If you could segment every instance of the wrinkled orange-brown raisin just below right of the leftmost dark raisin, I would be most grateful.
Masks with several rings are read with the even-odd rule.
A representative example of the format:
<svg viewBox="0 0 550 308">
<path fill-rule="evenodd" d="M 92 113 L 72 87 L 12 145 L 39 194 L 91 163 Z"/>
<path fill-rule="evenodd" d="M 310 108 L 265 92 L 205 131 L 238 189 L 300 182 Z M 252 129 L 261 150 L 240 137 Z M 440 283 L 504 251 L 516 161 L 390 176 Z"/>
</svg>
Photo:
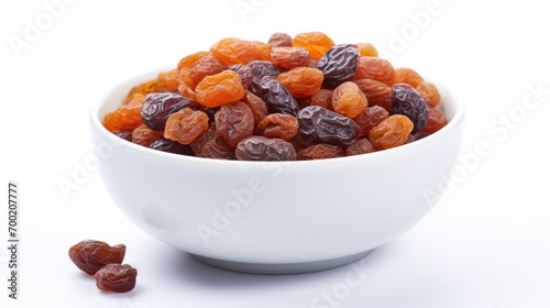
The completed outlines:
<svg viewBox="0 0 550 308">
<path fill-rule="evenodd" d="M 182 144 L 189 144 L 201 132 L 208 130 L 208 116 L 200 110 L 184 108 L 172 113 L 166 121 L 164 138 L 177 141 Z"/>
</svg>

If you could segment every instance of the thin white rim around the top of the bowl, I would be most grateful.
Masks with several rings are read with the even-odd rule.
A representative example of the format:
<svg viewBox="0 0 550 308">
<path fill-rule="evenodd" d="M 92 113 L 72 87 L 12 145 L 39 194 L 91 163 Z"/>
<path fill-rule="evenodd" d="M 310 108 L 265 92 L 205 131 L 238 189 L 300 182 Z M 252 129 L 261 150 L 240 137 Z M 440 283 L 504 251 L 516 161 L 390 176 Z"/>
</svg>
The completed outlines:
<svg viewBox="0 0 550 308">
<path fill-rule="evenodd" d="M 380 157 L 386 157 L 386 156 L 392 156 L 392 155 L 400 155 L 403 152 L 408 152 L 408 151 L 415 151 L 417 147 L 425 146 L 429 143 L 436 142 L 440 139 L 446 138 L 446 135 L 450 134 L 451 131 L 458 129 L 458 127 L 463 122 L 464 114 L 465 114 L 465 106 L 459 97 L 457 97 L 449 88 L 447 88 L 442 82 L 439 81 L 430 81 L 435 84 L 438 88 L 438 90 L 441 94 L 442 99 L 443 98 L 450 98 L 452 101 L 453 108 L 454 108 L 454 114 L 452 119 L 447 123 L 446 127 L 443 127 L 441 130 L 437 131 L 433 134 L 430 134 L 428 136 L 425 136 L 420 140 L 417 140 L 411 143 L 403 144 L 393 148 L 387 148 L 383 151 L 376 151 L 372 153 L 366 153 L 366 154 L 361 154 L 361 155 L 353 155 L 353 156 L 343 156 L 343 157 L 334 157 L 334 158 L 324 158 L 324 160 L 311 160 L 311 161 L 237 161 L 237 160 L 215 160 L 215 158 L 205 158 L 205 157 L 197 157 L 197 156 L 187 156 L 187 155 L 180 155 L 180 154 L 174 154 L 174 153 L 167 153 L 163 151 L 157 151 L 153 148 L 148 148 L 135 143 L 132 143 L 130 141 L 127 141 L 122 138 L 119 138 L 108 131 L 103 124 L 102 124 L 102 118 L 105 114 L 102 114 L 100 111 L 103 108 L 105 105 L 107 105 L 110 100 L 112 100 L 113 94 L 117 91 L 120 91 L 122 87 L 127 85 L 131 85 L 133 81 L 138 85 L 139 82 L 143 82 L 146 80 L 150 80 L 154 78 L 155 76 L 158 75 L 160 72 L 165 72 L 166 68 L 163 67 L 161 69 L 155 69 L 151 70 L 147 73 L 140 74 L 138 76 L 134 76 L 132 78 L 128 78 L 124 81 L 118 84 L 117 86 L 112 87 L 106 95 L 101 97 L 100 100 L 95 101 L 91 105 L 91 108 L 89 110 L 89 121 L 91 129 L 95 130 L 98 134 L 103 136 L 106 140 L 108 140 L 110 143 L 114 144 L 114 146 L 121 146 L 125 150 L 134 151 L 135 153 L 139 153 L 141 155 L 146 155 L 146 156 L 156 156 L 158 158 L 165 158 L 165 160 L 173 160 L 175 163 L 194 163 L 194 164 L 208 164 L 208 165 L 221 165 L 221 166 L 241 166 L 241 165 L 258 165 L 258 164 L 283 164 L 283 165 L 318 165 L 318 164 L 334 164 L 334 163 L 343 163 L 343 162 L 354 162 L 354 161 L 364 161 L 364 160 L 377 160 Z M 128 91 L 130 91 L 130 88 L 133 86 L 130 86 L 128 88 Z M 446 109 L 447 107 L 444 106 L 444 101 L 441 101 L 443 103 L 442 108 Z M 122 101 L 121 101 L 122 105 Z M 444 112 L 446 117 L 449 118 L 448 112 Z"/>
</svg>

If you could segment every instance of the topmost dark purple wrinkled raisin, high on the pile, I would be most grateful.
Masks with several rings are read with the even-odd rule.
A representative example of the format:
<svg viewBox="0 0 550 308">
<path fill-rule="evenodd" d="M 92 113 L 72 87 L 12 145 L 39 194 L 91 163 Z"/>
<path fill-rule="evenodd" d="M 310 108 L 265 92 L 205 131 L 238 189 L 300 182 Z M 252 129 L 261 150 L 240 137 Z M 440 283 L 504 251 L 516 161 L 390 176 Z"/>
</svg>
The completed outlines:
<svg viewBox="0 0 550 308">
<path fill-rule="evenodd" d="M 317 68 L 324 75 L 324 86 L 333 87 L 350 80 L 358 68 L 359 50 L 354 45 L 334 45 L 319 59 Z"/>
</svg>

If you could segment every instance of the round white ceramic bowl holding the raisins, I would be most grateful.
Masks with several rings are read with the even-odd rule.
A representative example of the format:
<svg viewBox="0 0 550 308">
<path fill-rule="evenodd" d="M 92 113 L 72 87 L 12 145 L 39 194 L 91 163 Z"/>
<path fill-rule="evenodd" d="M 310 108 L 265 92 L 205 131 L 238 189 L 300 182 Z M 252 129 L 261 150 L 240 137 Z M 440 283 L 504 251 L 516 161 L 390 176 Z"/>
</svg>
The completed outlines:
<svg viewBox="0 0 550 308">
<path fill-rule="evenodd" d="M 438 85 L 449 124 L 396 148 L 305 162 L 239 162 L 143 147 L 108 132 L 118 86 L 90 113 L 100 174 L 122 212 L 208 264 L 250 273 L 340 266 L 403 234 L 432 208 L 460 150 L 464 108 Z M 430 194 L 431 193 L 431 194 Z M 427 195 L 428 194 L 428 195 Z"/>
</svg>

